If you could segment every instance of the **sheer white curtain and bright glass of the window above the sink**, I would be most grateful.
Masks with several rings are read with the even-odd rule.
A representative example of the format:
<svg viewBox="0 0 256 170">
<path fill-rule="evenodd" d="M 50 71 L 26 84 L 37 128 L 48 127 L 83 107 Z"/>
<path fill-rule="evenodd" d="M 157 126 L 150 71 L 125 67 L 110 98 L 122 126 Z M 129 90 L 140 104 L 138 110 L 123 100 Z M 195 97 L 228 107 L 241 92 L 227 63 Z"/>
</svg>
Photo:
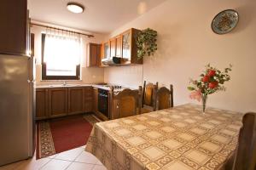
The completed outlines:
<svg viewBox="0 0 256 170">
<path fill-rule="evenodd" d="M 81 37 L 65 31 L 47 29 L 44 42 L 44 62 L 47 76 L 75 76 L 80 65 Z"/>
</svg>

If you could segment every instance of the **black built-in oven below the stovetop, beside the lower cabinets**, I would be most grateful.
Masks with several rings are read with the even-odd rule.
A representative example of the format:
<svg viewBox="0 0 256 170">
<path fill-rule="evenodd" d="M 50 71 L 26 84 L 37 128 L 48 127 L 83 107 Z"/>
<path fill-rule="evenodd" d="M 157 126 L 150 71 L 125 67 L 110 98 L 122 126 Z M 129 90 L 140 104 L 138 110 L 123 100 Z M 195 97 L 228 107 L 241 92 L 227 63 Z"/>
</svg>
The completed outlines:
<svg viewBox="0 0 256 170">
<path fill-rule="evenodd" d="M 109 118 L 108 113 L 108 90 L 98 89 L 98 111 Z"/>
</svg>

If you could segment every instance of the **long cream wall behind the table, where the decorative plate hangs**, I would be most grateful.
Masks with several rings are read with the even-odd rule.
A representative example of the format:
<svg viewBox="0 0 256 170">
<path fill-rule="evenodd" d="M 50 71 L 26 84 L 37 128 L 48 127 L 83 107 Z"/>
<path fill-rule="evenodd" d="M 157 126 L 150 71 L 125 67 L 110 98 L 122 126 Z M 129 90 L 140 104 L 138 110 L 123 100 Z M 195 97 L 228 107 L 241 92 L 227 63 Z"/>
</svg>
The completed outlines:
<svg viewBox="0 0 256 170">
<path fill-rule="evenodd" d="M 227 8 L 236 9 L 240 21 L 235 30 L 217 35 L 211 29 L 212 19 Z M 233 64 L 231 81 L 225 84 L 227 91 L 210 95 L 207 105 L 232 111 L 256 111 L 255 8 L 255 0 L 166 0 L 110 35 L 131 27 L 150 27 L 159 34 L 157 53 L 144 59 L 142 71 L 137 71 L 140 66 L 105 69 L 105 82 L 172 83 L 174 104 L 180 105 L 195 102 L 188 97 L 189 77 L 198 78 L 204 65 L 211 63 L 223 69 Z M 133 76 L 125 75 L 127 71 Z"/>
</svg>

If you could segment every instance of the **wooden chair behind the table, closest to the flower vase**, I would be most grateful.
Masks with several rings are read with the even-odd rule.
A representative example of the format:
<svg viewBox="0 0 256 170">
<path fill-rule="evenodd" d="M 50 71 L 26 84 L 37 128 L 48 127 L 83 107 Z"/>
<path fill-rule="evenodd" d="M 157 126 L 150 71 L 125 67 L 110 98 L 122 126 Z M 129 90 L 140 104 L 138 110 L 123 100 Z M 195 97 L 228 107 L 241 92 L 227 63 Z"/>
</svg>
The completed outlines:
<svg viewBox="0 0 256 170">
<path fill-rule="evenodd" d="M 170 85 L 170 89 L 162 87 L 160 89 L 154 88 L 155 105 L 154 111 L 159 111 L 173 107 L 173 87 Z"/>
</svg>

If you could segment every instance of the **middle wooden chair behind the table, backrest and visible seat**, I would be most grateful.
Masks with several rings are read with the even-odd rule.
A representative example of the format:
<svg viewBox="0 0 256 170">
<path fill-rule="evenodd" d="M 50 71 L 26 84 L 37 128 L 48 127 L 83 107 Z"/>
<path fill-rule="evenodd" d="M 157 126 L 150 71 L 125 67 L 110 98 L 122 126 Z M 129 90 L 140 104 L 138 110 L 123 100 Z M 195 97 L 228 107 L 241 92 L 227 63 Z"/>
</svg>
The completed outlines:
<svg viewBox="0 0 256 170">
<path fill-rule="evenodd" d="M 155 105 L 154 89 L 158 89 L 158 82 L 156 82 L 156 84 L 153 84 L 151 82 L 146 84 L 146 81 L 144 81 L 142 113 L 148 113 L 148 112 L 154 111 L 154 105 Z"/>
</svg>

